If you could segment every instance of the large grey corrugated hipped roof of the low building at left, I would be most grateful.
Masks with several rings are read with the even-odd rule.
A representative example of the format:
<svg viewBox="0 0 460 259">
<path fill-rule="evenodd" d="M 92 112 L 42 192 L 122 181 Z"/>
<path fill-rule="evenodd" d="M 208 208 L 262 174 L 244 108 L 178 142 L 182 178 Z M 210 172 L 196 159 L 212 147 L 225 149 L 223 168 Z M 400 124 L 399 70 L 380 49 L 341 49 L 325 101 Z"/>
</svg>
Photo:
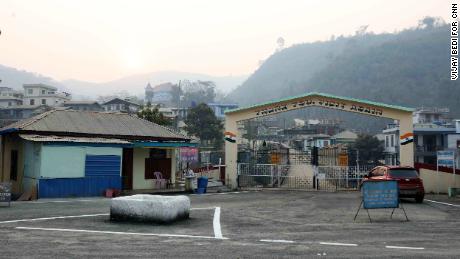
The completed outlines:
<svg viewBox="0 0 460 259">
<path fill-rule="evenodd" d="M 185 135 L 134 115 L 94 111 L 51 110 L 0 129 L 0 133 L 8 131 L 190 140 Z"/>
</svg>

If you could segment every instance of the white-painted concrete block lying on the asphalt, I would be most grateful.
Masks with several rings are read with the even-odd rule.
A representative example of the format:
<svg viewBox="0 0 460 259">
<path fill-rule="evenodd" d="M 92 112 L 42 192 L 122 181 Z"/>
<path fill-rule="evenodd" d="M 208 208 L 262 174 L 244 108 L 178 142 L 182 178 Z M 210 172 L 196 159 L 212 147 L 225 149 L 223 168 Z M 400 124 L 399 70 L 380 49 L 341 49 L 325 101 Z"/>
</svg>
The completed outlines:
<svg viewBox="0 0 460 259">
<path fill-rule="evenodd" d="M 190 199 L 184 195 L 163 196 L 137 194 L 113 198 L 110 219 L 171 223 L 189 218 Z"/>
</svg>

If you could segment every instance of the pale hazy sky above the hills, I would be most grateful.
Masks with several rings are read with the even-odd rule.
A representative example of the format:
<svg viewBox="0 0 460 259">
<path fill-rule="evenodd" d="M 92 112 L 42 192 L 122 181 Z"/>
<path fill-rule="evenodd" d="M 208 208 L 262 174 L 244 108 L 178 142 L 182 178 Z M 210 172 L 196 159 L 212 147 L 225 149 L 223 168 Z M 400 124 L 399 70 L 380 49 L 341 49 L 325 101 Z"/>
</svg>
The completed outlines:
<svg viewBox="0 0 460 259">
<path fill-rule="evenodd" d="M 0 64 L 53 78 L 108 81 L 160 70 L 250 74 L 286 46 L 449 21 L 451 1 L 1 0 Z"/>
</svg>

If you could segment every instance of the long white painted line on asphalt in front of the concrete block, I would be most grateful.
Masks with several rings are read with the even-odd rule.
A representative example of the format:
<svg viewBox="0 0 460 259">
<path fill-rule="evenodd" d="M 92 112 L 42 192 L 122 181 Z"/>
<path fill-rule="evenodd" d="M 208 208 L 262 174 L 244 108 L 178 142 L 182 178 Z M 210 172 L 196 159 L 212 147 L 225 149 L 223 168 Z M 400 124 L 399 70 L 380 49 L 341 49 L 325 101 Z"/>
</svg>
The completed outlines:
<svg viewBox="0 0 460 259">
<path fill-rule="evenodd" d="M 179 235 L 179 234 L 154 234 L 154 233 L 136 233 L 136 232 L 117 232 L 117 231 L 99 231 L 99 230 L 68 229 L 68 228 L 16 227 L 16 229 L 74 232 L 74 233 L 75 232 L 80 232 L 80 233 L 95 233 L 95 234 L 133 235 L 133 236 L 184 237 L 184 238 L 201 238 L 201 239 L 228 239 L 228 238 L 215 238 L 215 237 L 209 237 L 209 236 L 194 236 L 194 235 Z"/>
</svg>

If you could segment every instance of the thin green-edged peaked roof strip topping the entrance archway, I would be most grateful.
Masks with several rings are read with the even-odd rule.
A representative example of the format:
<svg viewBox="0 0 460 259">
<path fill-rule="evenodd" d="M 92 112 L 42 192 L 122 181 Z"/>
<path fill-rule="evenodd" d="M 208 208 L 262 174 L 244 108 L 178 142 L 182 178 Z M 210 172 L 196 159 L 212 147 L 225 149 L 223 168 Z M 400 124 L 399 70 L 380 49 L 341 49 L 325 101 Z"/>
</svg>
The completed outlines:
<svg viewBox="0 0 460 259">
<path fill-rule="evenodd" d="M 294 100 L 294 99 L 299 99 L 299 98 L 304 98 L 304 97 L 309 97 L 309 96 L 329 97 L 329 98 L 343 100 L 343 101 L 364 103 L 364 104 L 369 104 L 369 105 L 373 105 L 373 106 L 377 106 L 377 107 L 390 108 L 390 109 L 395 109 L 395 110 L 400 110 L 400 111 L 407 111 L 407 112 L 415 111 L 414 108 L 409 108 L 409 107 L 403 107 L 403 106 L 398 106 L 398 105 L 374 102 L 374 101 L 369 101 L 369 100 L 365 100 L 365 99 L 358 99 L 358 98 L 351 98 L 351 97 L 344 97 L 344 96 L 336 96 L 336 95 L 332 95 L 332 94 L 311 92 L 311 93 L 307 93 L 307 94 L 303 94 L 303 95 L 290 96 L 290 97 L 286 97 L 286 98 L 282 98 L 282 99 L 277 99 L 277 100 L 272 100 L 272 101 L 268 101 L 268 102 L 264 102 L 264 103 L 254 104 L 254 105 L 247 106 L 247 107 L 241 107 L 241 108 L 237 108 L 237 109 L 233 109 L 233 110 L 227 110 L 227 111 L 225 111 L 225 114 L 241 112 L 241 111 L 245 111 L 245 110 L 249 110 L 249 109 L 253 109 L 253 108 L 262 107 L 262 106 L 265 106 L 265 105 L 271 105 L 271 104 L 275 104 L 275 103 L 278 103 L 278 102 L 291 101 L 291 100 Z"/>
</svg>

